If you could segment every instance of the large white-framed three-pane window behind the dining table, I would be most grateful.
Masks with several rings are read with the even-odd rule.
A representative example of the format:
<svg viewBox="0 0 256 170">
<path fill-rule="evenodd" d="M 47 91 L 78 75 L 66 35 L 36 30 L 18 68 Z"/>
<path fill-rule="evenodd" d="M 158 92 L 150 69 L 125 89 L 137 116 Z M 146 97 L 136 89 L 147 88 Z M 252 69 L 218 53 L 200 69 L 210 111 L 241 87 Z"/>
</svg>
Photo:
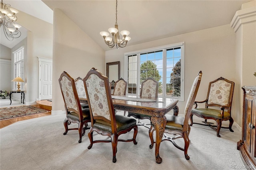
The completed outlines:
<svg viewBox="0 0 256 170">
<path fill-rule="evenodd" d="M 159 82 L 158 96 L 184 101 L 184 42 L 124 54 L 128 94 L 139 95 L 148 77 Z"/>
</svg>

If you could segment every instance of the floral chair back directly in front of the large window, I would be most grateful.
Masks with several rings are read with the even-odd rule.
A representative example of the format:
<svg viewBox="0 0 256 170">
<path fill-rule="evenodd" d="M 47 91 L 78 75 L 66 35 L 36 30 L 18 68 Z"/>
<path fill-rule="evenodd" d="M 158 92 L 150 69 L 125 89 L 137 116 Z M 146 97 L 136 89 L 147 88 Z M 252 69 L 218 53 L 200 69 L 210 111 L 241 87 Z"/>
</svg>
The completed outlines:
<svg viewBox="0 0 256 170">
<path fill-rule="evenodd" d="M 152 78 L 147 78 L 141 83 L 140 90 L 141 98 L 155 98 L 158 97 L 158 81 Z"/>
</svg>

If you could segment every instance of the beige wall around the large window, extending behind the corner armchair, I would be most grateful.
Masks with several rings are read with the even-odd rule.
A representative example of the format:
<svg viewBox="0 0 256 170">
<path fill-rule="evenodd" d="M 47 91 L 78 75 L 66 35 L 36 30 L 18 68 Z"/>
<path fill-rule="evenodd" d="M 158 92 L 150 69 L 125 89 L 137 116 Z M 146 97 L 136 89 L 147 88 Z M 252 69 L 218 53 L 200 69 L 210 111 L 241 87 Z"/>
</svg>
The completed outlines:
<svg viewBox="0 0 256 170">
<path fill-rule="evenodd" d="M 196 101 L 206 99 L 210 81 L 224 77 L 236 83 L 236 34 L 229 24 L 106 51 L 106 63 L 120 61 L 120 76 L 124 77 L 124 53 L 178 42 L 185 42 L 185 100 L 178 102 L 180 114 L 184 114 L 191 85 L 198 71 L 201 70 L 203 74 Z M 233 101 L 236 95 L 234 93 Z M 236 105 L 232 105 L 232 112 L 232 117 L 240 125 L 241 113 L 236 111 Z"/>
</svg>

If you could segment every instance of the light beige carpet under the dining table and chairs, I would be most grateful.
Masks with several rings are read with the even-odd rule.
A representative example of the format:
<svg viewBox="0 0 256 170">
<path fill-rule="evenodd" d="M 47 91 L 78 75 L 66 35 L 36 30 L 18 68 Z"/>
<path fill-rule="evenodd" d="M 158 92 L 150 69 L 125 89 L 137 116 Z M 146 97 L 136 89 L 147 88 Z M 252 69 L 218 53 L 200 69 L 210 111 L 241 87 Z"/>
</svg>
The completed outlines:
<svg viewBox="0 0 256 170">
<path fill-rule="evenodd" d="M 118 114 L 123 114 L 122 112 Z M 245 169 L 236 150 L 241 132 L 221 129 L 221 138 L 209 127 L 193 125 L 186 160 L 184 152 L 171 142 L 160 145 L 163 159 L 157 164 L 149 148 L 148 129 L 139 127 L 137 145 L 118 142 L 117 161 L 112 163 L 111 143 L 96 143 L 88 150 L 87 134 L 78 143 L 76 130 L 63 135 L 65 115 L 46 116 L 14 123 L 0 129 L 1 170 L 229 170 Z M 76 124 L 74 124 L 76 125 Z M 88 130 L 86 130 L 88 132 Z M 131 138 L 133 134 L 122 134 Z M 94 138 L 102 138 L 94 134 Z M 103 137 L 105 138 L 105 137 Z M 181 139 L 182 142 L 182 139 Z M 236 168 L 234 168 L 236 167 Z"/>
</svg>

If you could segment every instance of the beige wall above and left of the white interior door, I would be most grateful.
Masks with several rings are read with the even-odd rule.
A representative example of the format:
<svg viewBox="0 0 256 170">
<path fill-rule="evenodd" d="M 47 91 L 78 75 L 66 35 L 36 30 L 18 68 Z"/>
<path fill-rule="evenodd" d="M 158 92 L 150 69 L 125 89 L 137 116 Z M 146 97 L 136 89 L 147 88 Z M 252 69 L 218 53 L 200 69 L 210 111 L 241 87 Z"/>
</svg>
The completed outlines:
<svg viewBox="0 0 256 170">
<path fill-rule="evenodd" d="M 38 98 L 38 58 L 52 58 L 52 24 L 28 15 L 17 14 L 18 24 L 28 30 L 24 58 L 24 81 L 26 82 L 26 105 L 35 104 Z M 12 48 L 16 50 L 19 45 Z M 20 47 L 20 46 L 19 46 Z M 13 75 L 13 74 L 12 74 Z"/>
</svg>

